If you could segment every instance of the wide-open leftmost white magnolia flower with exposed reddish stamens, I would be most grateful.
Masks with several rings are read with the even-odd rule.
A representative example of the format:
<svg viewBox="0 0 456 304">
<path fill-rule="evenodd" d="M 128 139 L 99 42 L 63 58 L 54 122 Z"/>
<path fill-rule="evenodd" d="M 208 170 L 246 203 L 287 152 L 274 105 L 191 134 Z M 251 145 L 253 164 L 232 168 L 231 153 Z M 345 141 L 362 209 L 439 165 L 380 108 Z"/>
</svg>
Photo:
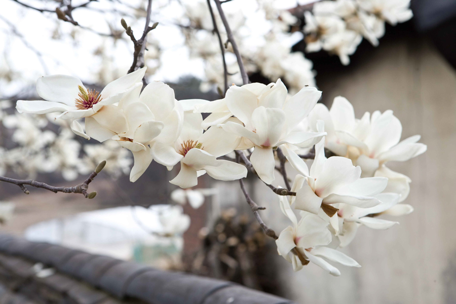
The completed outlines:
<svg viewBox="0 0 456 304">
<path fill-rule="evenodd" d="M 86 131 L 91 133 L 93 125 L 98 126 L 101 122 L 112 119 L 112 111 L 100 111 L 103 106 L 118 102 L 126 92 L 142 86 L 145 69 L 143 67 L 109 83 L 100 93 L 88 90 L 81 80 L 68 75 L 41 77 L 36 81 L 36 91 L 45 100 L 18 100 L 16 108 L 19 113 L 62 112 L 56 119 L 91 118 L 91 124 L 86 119 Z M 90 139 L 77 121 L 73 121 L 71 129 L 74 133 Z"/>
</svg>

